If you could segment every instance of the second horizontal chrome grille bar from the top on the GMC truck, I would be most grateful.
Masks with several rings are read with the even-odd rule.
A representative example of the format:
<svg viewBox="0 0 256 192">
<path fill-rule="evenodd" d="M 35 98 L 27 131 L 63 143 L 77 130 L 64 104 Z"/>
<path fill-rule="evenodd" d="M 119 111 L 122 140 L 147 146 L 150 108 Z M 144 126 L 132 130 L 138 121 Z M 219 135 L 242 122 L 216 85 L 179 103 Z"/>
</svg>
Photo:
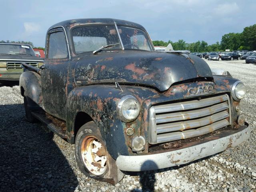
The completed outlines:
<svg viewBox="0 0 256 192">
<path fill-rule="evenodd" d="M 156 115 L 156 123 L 188 120 L 188 119 L 211 115 L 226 109 L 228 109 L 228 103 L 224 102 L 224 103 L 216 104 L 214 106 L 198 109 L 198 110 L 191 110 L 191 111 L 177 112 L 177 113 L 170 113 L 170 114 L 169 113 L 160 114 L 160 115 Z"/>
</svg>

